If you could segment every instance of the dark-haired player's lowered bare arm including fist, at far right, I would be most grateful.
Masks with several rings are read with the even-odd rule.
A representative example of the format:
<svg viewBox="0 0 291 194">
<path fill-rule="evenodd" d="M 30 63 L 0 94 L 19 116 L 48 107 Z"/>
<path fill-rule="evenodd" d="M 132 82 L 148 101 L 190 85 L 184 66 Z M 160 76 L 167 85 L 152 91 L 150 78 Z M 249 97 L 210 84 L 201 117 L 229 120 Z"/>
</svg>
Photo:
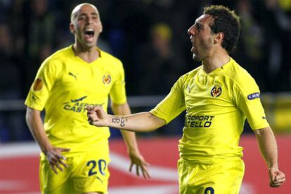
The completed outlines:
<svg viewBox="0 0 291 194">
<path fill-rule="evenodd" d="M 269 167 L 269 179 L 271 187 L 279 187 L 285 182 L 285 174 L 278 168 L 278 148 L 275 136 L 270 127 L 254 130 L 261 155 Z"/>
</svg>

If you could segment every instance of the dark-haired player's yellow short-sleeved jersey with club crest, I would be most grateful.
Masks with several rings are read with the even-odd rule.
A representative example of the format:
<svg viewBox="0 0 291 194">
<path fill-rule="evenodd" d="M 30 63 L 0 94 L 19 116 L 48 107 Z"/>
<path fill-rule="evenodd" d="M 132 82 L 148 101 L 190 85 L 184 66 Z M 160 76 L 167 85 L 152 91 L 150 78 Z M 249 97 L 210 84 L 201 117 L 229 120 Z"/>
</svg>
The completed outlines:
<svg viewBox="0 0 291 194">
<path fill-rule="evenodd" d="M 181 76 L 151 113 L 169 123 L 184 110 L 179 151 L 187 162 L 242 157 L 238 143 L 245 118 L 253 130 L 269 126 L 257 83 L 232 58 L 209 74 L 200 66 Z"/>
</svg>

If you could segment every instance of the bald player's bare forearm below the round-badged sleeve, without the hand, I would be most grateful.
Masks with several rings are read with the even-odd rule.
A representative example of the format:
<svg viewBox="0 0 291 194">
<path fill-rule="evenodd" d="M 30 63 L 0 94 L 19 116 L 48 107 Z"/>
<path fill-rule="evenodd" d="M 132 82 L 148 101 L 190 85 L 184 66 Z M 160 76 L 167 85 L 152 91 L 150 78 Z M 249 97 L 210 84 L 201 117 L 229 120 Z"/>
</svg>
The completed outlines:
<svg viewBox="0 0 291 194">
<path fill-rule="evenodd" d="M 30 132 L 34 137 L 34 140 L 37 141 L 41 151 L 46 153 L 46 151 L 51 148 L 51 143 L 46 137 L 46 133 L 44 131 L 44 125 L 41 120 L 40 111 L 27 108 L 26 113 L 26 122 L 28 127 L 30 128 Z"/>
</svg>

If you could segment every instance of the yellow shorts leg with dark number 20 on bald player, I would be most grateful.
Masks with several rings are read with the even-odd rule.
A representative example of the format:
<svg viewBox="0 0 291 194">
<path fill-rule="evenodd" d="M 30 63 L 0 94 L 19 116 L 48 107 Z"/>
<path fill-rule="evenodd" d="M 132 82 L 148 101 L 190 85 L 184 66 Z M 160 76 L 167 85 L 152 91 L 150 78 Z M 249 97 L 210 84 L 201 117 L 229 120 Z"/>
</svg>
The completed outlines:
<svg viewBox="0 0 291 194">
<path fill-rule="evenodd" d="M 107 193 L 109 153 L 87 153 L 75 157 L 72 188 L 75 193 Z"/>
</svg>

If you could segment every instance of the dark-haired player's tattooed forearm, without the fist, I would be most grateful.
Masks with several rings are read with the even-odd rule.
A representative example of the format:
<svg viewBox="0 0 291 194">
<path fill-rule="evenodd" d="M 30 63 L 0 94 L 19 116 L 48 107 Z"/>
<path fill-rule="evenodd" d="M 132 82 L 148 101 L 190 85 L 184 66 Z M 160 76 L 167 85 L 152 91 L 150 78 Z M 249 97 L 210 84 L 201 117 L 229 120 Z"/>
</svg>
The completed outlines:
<svg viewBox="0 0 291 194">
<path fill-rule="evenodd" d="M 108 116 L 110 127 L 132 132 L 151 132 L 165 124 L 164 120 L 157 118 L 152 113 L 143 112 L 127 116 Z"/>
</svg>

